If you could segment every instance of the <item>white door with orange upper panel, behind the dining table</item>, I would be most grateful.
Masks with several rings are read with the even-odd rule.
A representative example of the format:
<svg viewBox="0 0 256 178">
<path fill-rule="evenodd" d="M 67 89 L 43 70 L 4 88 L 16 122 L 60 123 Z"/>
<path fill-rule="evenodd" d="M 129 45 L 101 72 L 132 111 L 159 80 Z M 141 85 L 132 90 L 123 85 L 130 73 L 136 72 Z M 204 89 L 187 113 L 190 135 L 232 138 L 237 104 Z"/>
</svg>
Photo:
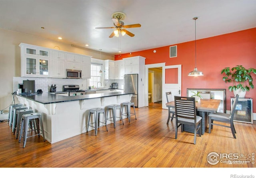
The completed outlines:
<svg viewBox="0 0 256 178">
<path fill-rule="evenodd" d="M 166 107 L 166 92 L 172 92 L 174 96 L 181 96 L 181 65 L 162 67 L 162 108 Z M 170 101 L 169 101 L 170 102 Z"/>
</svg>

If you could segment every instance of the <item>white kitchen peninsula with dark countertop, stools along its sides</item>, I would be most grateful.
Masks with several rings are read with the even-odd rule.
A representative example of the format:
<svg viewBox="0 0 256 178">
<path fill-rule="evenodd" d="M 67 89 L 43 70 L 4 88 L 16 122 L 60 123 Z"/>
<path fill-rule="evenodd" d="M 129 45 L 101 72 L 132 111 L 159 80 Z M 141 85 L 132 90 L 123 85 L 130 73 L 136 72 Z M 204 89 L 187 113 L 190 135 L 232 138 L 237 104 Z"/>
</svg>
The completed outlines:
<svg viewBox="0 0 256 178">
<path fill-rule="evenodd" d="M 50 143 L 56 143 L 85 133 L 90 109 L 129 102 L 132 93 L 112 92 L 81 96 L 43 93 L 36 95 L 17 94 L 16 97 L 19 103 L 24 104 L 34 112 L 42 113 L 46 140 Z M 119 114 L 120 111 L 117 110 L 117 115 Z M 94 122 L 92 116 L 90 119 L 90 123 Z M 103 116 L 100 117 L 100 121 L 104 121 Z M 107 124 L 110 123 L 111 121 L 108 121 Z M 92 129 L 89 127 L 89 131 Z"/>
</svg>

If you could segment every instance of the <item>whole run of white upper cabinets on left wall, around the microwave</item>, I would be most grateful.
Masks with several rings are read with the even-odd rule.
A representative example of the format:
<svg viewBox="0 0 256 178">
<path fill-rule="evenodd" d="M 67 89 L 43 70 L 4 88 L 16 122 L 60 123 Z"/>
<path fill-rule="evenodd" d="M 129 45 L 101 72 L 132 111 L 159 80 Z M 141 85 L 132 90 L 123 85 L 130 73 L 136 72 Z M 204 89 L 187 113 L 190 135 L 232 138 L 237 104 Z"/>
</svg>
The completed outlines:
<svg viewBox="0 0 256 178">
<path fill-rule="evenodd" d="M 82 70 L 90 78 L 91 57 L 20 43 L 21 76 L 65 78 L 66 68 Z"/>
</svg>

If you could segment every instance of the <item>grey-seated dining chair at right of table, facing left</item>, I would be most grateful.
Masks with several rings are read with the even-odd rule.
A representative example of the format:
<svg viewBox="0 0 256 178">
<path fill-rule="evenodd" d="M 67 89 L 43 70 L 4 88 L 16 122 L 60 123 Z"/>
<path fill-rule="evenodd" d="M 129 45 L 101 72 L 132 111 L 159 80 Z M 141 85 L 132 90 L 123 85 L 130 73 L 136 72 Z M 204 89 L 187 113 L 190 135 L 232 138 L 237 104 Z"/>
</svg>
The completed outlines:
<svg viewBox="0 0 256 178">
<path fill-rule="evenodd" d="M 236 99 L 233 102 L 232 110 L 230 111 L 230 114 L 220 113 L 220 112 L 209 114 L 209 131 L 208 131 L 208 133 L 211 133 L 211 129 L 212 129 L 213 125 L 228 127 L 228 128 L 231 129 L 233 137 L 236 139 L 236 135 L 235 135 L 236 129 L 234 127 L 233 119 L 234 119 L 234 114 L 235 114 L 235 111 L 236 111 L 236 104 L 238 102 L 238 98 L 239 98 L 239 95 L 237 94 Z M 218 121 L 218 122 L 221 122 L 221 123 L 224 123 L 224 124 L 214 123 L 214 121 Z"/>
</svg>

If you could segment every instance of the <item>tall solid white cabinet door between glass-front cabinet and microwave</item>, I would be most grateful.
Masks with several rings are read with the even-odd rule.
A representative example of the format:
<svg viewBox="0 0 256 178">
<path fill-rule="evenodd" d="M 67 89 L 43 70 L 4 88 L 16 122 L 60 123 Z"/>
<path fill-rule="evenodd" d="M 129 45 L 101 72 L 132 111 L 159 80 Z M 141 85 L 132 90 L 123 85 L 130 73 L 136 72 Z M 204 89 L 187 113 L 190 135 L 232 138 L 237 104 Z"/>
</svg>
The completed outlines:
<svg viewBox="0 0 256 178">
<path fill-rule="evenodd" d="M 59 77 L 59 78 L 65 78 L 65 61 L 63 60 L 52 60 L 52 77 Z"/>
</svg>

